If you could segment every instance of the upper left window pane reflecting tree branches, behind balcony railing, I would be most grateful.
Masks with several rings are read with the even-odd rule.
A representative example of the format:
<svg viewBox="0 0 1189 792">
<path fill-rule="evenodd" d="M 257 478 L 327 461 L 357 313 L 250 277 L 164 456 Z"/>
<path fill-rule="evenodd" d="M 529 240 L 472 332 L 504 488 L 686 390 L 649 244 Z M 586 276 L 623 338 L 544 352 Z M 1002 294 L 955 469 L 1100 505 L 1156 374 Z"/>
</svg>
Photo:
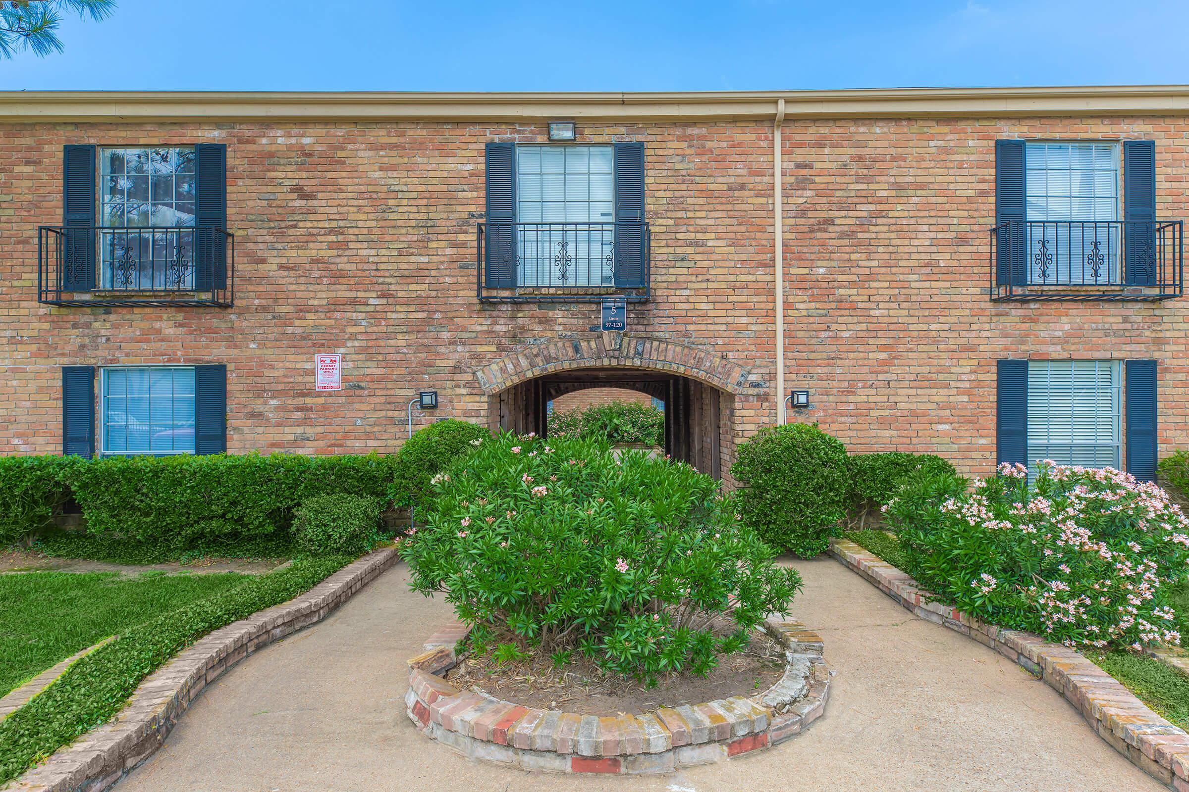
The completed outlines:
<svg viewBox="0 0 1189 792">
<path fill-rule="evenodd" d="M 101 289 L 193 289 L 194 147 L 102 148 Z"/>
</svg>

